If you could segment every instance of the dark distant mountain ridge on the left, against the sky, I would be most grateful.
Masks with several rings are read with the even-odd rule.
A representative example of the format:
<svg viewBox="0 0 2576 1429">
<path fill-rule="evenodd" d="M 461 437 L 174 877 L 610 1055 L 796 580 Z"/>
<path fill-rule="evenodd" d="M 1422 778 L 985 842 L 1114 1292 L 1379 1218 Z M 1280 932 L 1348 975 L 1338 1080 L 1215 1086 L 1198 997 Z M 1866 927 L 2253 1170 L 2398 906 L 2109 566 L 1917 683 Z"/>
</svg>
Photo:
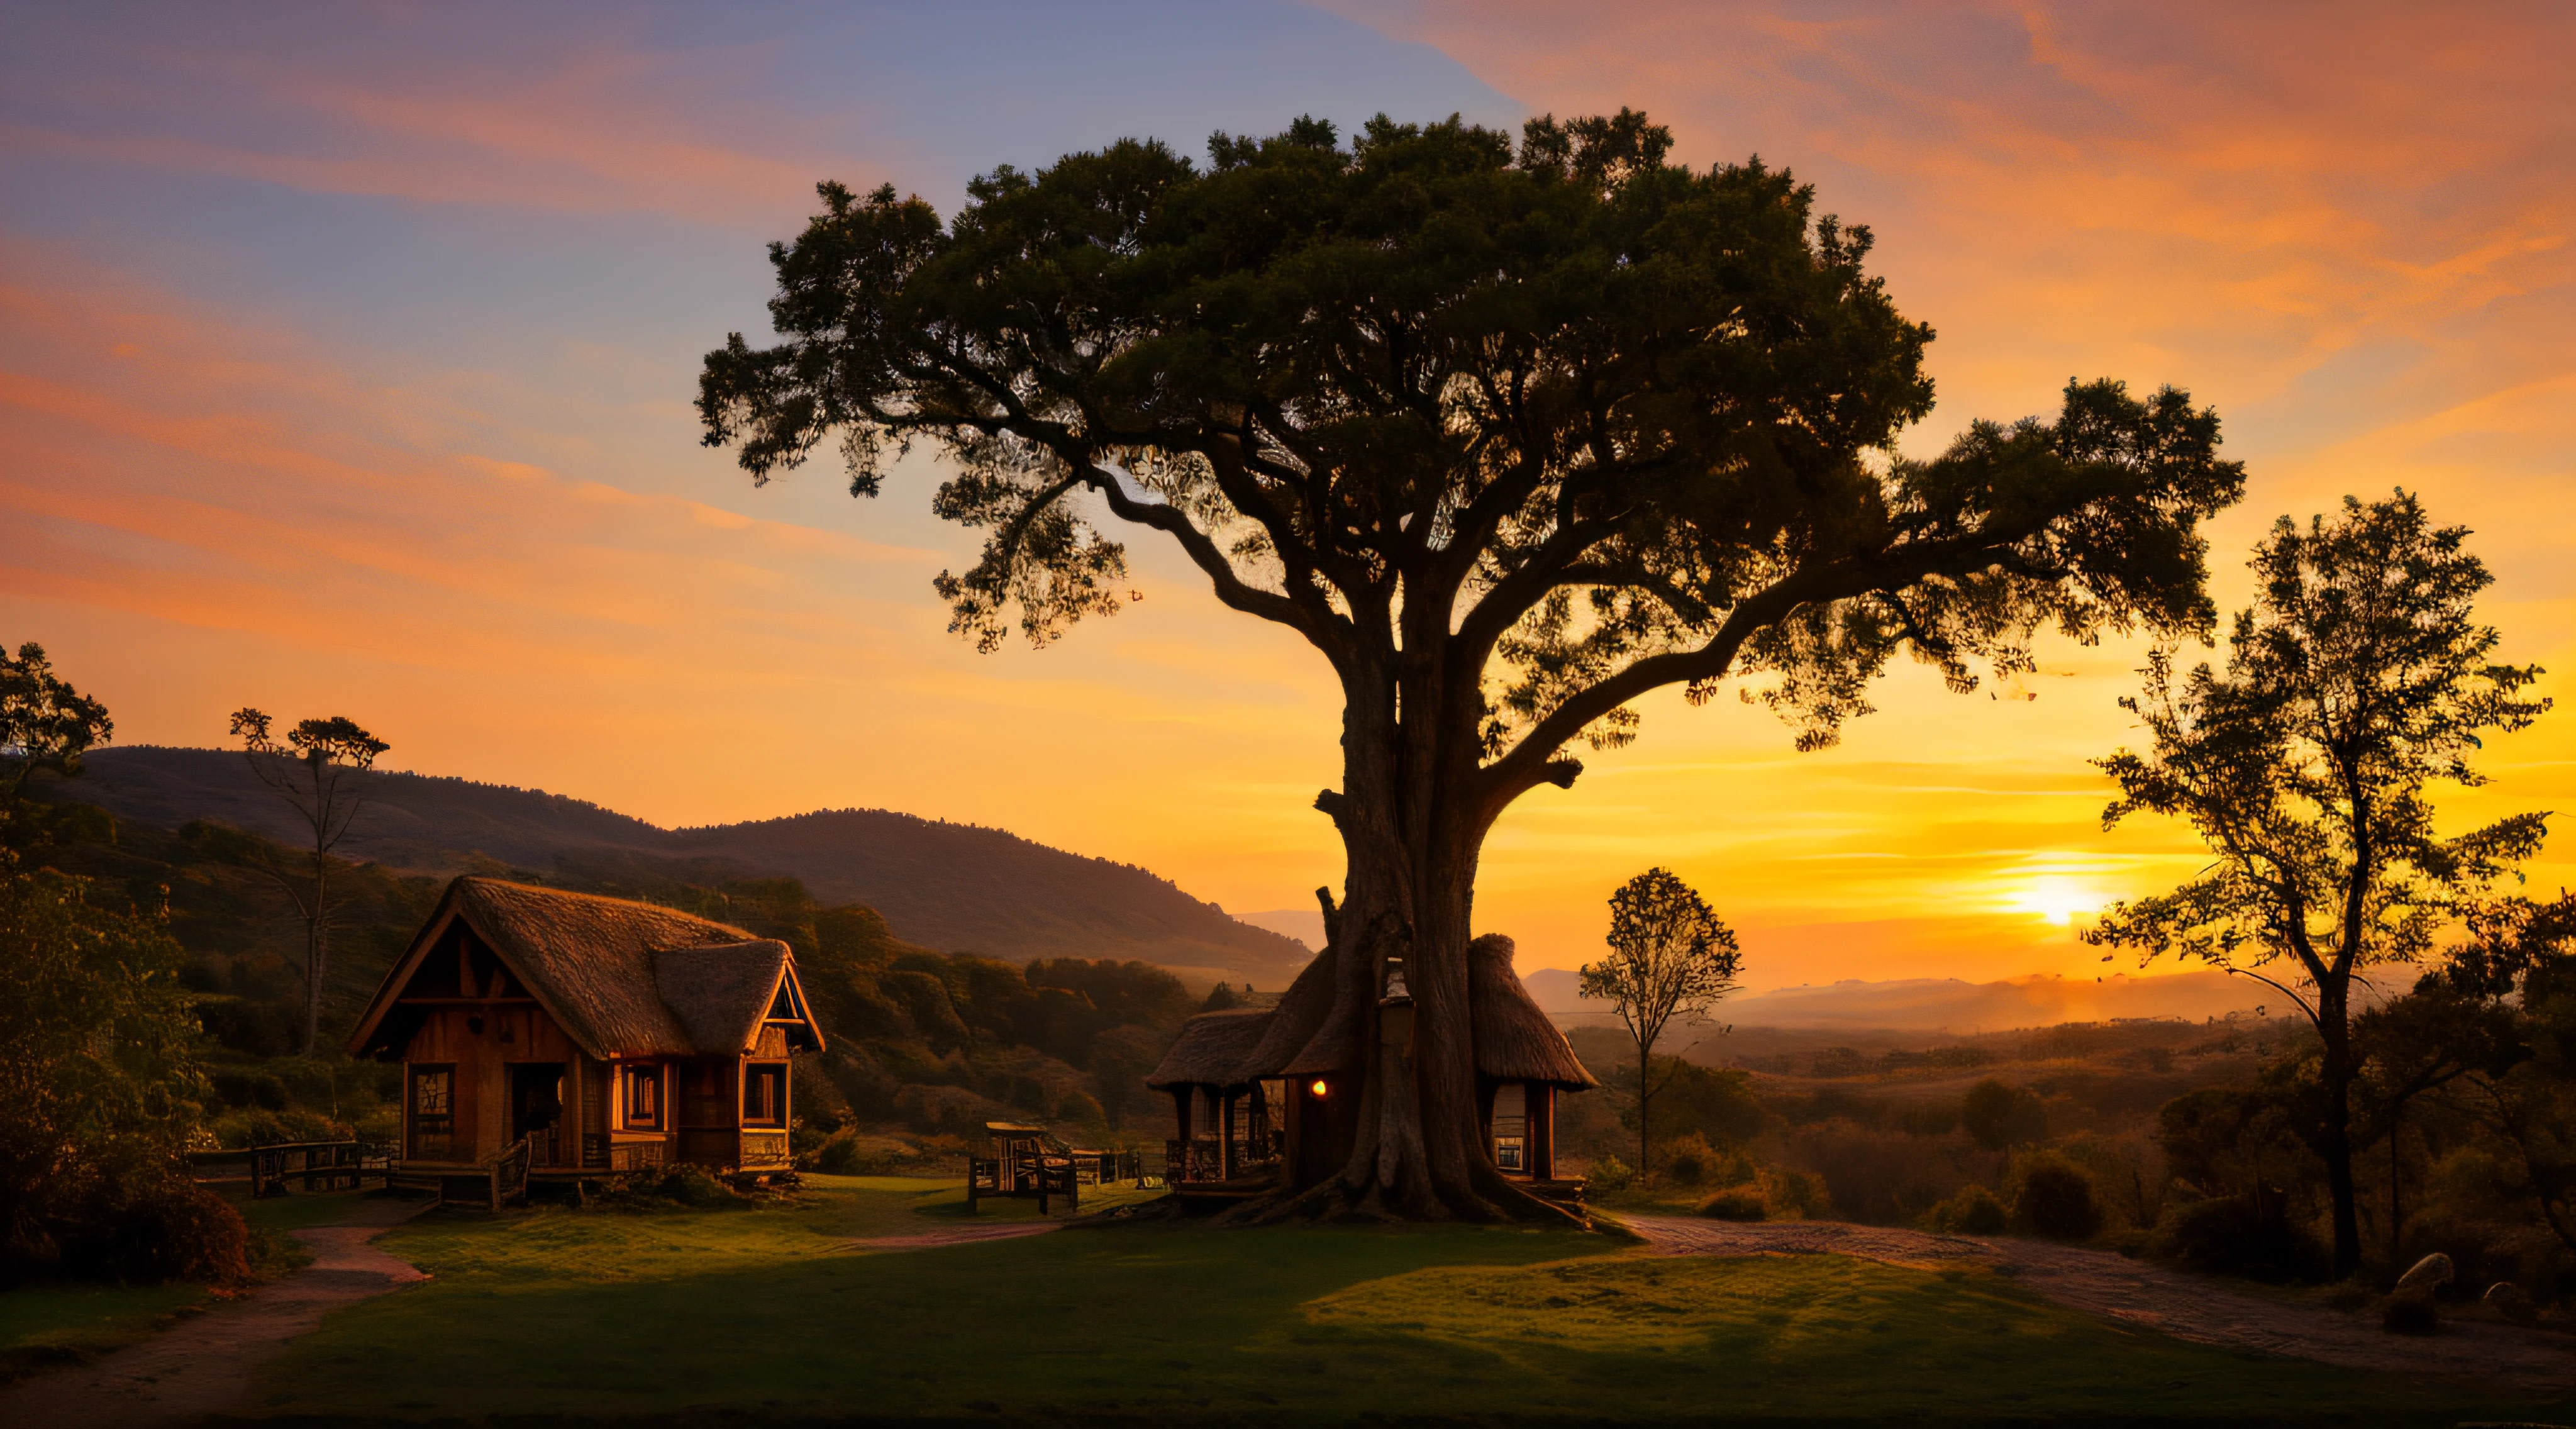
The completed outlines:
<svg viewBox="0 0 2576 1429">
<path fill-rule="evenodd" d="M 925 948 L 989 958 L 1139 958 L 1255 986 L 1285 986 L 1311 953 L 1229 917 L 1144 868 L 1036 845 L 1005 829 L 886 808 L 837 808 L 662 829 L 559 793 L 461 778 L 363 772 L 366 814 L 348 857 L 420 873 L 641 860 L 698 878 L 796 878 L 822 904 L 868 904 Z M 296 842 L 294 814 L 229 749 L 124 747 L 88 757 L 46 798 L 175 829 L 219 819 Z M 309 834 L 307 834 L 309 837 Z"/>
</svg>

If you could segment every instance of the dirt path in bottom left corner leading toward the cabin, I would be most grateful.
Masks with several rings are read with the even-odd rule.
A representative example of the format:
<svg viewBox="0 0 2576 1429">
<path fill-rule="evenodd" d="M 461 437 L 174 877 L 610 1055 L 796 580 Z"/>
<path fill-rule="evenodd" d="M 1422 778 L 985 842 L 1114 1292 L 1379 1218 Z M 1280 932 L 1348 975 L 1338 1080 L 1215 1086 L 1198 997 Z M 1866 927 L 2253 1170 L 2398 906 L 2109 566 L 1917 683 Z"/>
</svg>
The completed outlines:
<svg viewBox="0 0 2576 1429">
<path fill-rule="evenodd" d="M 428 1202 L 368 1197 L 340 1226 L 296 1231 L 314 1251 L 309 1267 L 142 1344 L 0 1390 L 0 1424 L 106 1429 L 245 1411 L 260 1370 L 322 1316 L 428 1280 L 368 1244 L 422 1210 Z"/>
</svg>

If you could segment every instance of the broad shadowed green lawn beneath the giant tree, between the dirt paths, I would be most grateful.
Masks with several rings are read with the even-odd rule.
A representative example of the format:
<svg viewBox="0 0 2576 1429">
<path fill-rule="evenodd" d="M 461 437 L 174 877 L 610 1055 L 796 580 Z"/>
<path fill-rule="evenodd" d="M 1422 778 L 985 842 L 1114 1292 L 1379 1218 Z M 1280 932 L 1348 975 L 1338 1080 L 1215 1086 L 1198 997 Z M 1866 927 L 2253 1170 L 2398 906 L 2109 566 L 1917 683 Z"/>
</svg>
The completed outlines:
<svg viewBox="0 0 2576 1429">
<path fill-rule="evenodd" d="M 1517 1228 L 1110 1226 L 871 1254 L 850 1241 L 963 1223 L 956 1182 L 809 1187 L 804 1208 L 402 1226 L 381 1244 L 435 1280 L 332 1316 L 270 1367 L 263 1408 L 1180 1424 L 2550 1408 L 2128 1334 L 1984 1272 L 1656 1259 Z M 1028 1215 L 987 1202 L 976 1220 Z"/>
</svg>

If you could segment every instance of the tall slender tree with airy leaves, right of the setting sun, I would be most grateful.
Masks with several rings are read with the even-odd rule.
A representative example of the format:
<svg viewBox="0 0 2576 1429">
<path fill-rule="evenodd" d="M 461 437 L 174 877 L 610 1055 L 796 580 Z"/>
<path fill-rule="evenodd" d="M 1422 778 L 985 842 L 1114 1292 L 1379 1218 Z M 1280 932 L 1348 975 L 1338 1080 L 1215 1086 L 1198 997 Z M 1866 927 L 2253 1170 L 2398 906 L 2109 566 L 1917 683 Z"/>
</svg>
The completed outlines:
<svg viewBox="0 0 2576 1429">
<path fill-rule="evenodd" d="M 2465 543 L 2465 528 L 2434 528 L 2406 492 L 2367 507 L 2347 497 L 2339 520 L 2306 530 L 2282 518 L 2254 548 L 2257 597 L 2236 615 L 2226 672 L 2177 677 L 2159 649 L 2143 695 L 2120 700 L 2148 749 L 2099 760 L 2120 785 L 2105 829 L 2130 814 L 2187 819 L 2213 865 L 2172 893 L 2115 904 L 2087 937 L 2251 976 L 2316 1027 L 2308 1120 L 2334 1197 L 2336 1277 L 2362 1256 L 2352 984 L 2429 953 L 2545 834 L 2543 814 L 2434 832 L 2429 788 L 2486 783 L 2468 765 L 2481 736 L 2548 708 L 2522 695 L 2537 667 L 2488 659 L 2496 631 L 2473 602 L 2494 577 Z"/>
</svg>

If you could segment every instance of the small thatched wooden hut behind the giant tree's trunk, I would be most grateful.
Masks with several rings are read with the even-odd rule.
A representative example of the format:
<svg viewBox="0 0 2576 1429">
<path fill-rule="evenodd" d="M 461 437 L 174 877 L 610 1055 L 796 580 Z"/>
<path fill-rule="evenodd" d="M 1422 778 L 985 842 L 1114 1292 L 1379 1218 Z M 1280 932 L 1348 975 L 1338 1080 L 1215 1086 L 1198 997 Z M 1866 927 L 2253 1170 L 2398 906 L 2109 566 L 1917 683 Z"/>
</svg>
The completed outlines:
<svg viewBox="0 0 2576 1429">
<path fill-rule="evenodd" d="M 1381 989 L 1383 991 L 1383 989 Z M 1275 1009 L 1200 1012 L 1146 1084 L 1172 1097 L 1172 1187 L 1260 1195 L 1283 1177 L 1303 1190 L 1350 1161 L 1360 1130 L 1360 1022 L 1316 958 Z M 1468 945 L 1468 1032 L 1486 1156 L 1533 1190 L 1574 1195 L 1556 1177 L 1556 1097 L 1600 1087 L 1512 971 L 1512 940 Z"/>
</svg>

